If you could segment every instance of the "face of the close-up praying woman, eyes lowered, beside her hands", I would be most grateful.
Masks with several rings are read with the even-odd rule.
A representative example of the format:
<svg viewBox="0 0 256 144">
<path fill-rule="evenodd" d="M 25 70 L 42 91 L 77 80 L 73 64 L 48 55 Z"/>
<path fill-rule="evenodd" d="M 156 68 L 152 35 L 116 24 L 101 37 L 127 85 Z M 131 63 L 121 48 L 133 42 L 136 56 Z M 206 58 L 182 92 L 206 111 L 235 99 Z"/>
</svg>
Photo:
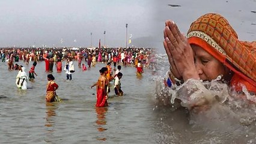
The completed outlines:
<svg viewBox="0 0 256 144">
<path fill-rule="evenodd" d="M 227 68 L 221 62 L 213 58 L 200 46 L 192 45 L 191 47 L 194 51 L 195 67 L 201 80 L 210 81 L 216 79 L 219 75 L 224 76 Z"/>
</svg>

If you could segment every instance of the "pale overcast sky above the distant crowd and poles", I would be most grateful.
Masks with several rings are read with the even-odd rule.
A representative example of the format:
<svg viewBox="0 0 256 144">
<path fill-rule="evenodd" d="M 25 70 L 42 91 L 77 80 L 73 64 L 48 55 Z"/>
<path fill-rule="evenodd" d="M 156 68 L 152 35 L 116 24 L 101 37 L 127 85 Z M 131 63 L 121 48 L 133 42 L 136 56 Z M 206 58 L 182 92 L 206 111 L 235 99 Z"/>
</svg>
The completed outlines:
<svg viewBox="0 0 256 144">
<path fill-rule="evenodd" d="M 153 1 L 1 0 L 0 47 L 89 47 L 91 32 L 94 47 L 124 47 L 126 23 L 132 45 L 151 47 Z"/>
</svg>

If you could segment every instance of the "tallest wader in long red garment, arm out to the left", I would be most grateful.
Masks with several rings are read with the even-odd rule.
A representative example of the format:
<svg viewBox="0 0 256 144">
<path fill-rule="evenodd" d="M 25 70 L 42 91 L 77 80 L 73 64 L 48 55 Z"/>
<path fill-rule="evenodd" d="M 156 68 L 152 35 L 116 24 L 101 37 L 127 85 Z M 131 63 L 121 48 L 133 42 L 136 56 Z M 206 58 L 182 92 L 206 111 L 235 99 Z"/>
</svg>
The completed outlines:
<svg viewBox="0 0 256 144">
<path fill-rule="evenodd" d="M 108 68 L 103 67 L 100 69 L 100 77 L 98 79 L 98 82 L 94 83 L 94 85 L 91 86 L 93 88 L 97 85 L 97 102 L 96 107 L 106 107 L 108 106 L 108 94 L 106 91 L 106 87 L 108 86 L 108 79 L 106 78 L 106 71 L 108 71 Z"/>
</svg>

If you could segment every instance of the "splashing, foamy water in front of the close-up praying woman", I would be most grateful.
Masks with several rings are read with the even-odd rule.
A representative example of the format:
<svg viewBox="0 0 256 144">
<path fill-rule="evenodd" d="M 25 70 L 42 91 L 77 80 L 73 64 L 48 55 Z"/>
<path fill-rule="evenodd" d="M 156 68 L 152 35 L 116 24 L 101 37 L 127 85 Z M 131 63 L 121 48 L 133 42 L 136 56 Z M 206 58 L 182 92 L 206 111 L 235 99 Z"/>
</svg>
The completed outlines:
<svg viewBox="0 0 256 144">
<path fill-rule="evenodd" d="M 216 137 L 222 143 L 227 137 L 230 137 L 230 140 L 243 137 L 245 141 L 256 142 L 255 94 L 249 93 L 243 86 L 245 96 L 242 97 L 221 82 L 221 76 L 211 82 L 190 79 L 181 86 L 168 88 L 163 83 L 169 68 L 167 56 L 160 54 L 157 59 L 161 68 L 158 68 L 159 75 L 154 76 L 157 83 L 154 110 L 162 109 L 162 106 L 169 107 L 171 116 L 171 113 L 180 110 L 180 107 L 186 107 L 183 113 L 189 112 L 187 119 L 191 130 L 199 128 L 198 133 L 206 133 L 207 136 L 219 133 Z M 230 136 L 227 132 L 233 135 Z M 228 142 L 231 142 L 230 140 Z"/>
</svg>

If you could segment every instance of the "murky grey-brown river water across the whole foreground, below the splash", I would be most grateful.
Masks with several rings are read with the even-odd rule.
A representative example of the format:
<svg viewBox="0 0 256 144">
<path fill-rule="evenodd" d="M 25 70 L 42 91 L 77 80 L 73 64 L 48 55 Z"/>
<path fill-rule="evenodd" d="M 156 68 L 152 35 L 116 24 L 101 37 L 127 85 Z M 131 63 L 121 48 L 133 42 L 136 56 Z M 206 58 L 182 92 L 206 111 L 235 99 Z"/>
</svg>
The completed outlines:
<svg viewBox="0 0 256 144">
<path fill-rule="evenodd" d="M 16 88 L 17 71 L 8 71 L 0 63 L 0 142 L 1 143 L 255 143 L 255 112 L 236 118 L 228 107 L 216 106 L 201 115 L 171 105 L 161 98 L 162 79 L 168 65 L 166 55 L 159 59 L 157 76 L 145 69 L 136 77 L 135 68 L 122 67 L 123 97 L 111 89 L 108 107 L 97 108 L 97 63 L 82 71 L 75 61 L 73 80 L 66 80 L 64 71 L 56 73 L 56 91 L 64 101 L 47 103 L 47 74 L 44 62 L 38 62 L 35 82 L 28 82 L 26 91 Z M 19 62 L 26 67 L 31 67 Z M 53 67 L 55 70 L 55 67 Z M 154 73 L 156 74 L 156 73 Z M 168 92 L 166 95 L 169 97 Z M 252 110 L 255 110 L 253 108 Z M 251 117 L 249 117 L 251 116 Z M 241 122 L 241 121 L 244 122 Z"/>
</svg>

